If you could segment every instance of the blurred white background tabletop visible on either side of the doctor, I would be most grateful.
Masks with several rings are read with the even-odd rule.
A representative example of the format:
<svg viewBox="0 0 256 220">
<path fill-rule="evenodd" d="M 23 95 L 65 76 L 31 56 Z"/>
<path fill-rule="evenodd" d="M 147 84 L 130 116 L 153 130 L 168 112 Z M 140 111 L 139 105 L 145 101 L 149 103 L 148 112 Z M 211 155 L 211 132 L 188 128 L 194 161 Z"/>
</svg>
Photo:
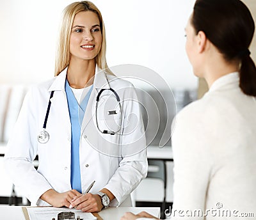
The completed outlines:
<svg viewBox="0 0 256 220">
<path fill-rule="evenodd" d="M 6 150 L 6 145 L 0 143 L 0 155 L 3 156 Z M 173 160 L 172 147 L 164 146 L 148 146 L 147 147 L 148 159 L 163 159 L 167 161 Z"/>
</svg>

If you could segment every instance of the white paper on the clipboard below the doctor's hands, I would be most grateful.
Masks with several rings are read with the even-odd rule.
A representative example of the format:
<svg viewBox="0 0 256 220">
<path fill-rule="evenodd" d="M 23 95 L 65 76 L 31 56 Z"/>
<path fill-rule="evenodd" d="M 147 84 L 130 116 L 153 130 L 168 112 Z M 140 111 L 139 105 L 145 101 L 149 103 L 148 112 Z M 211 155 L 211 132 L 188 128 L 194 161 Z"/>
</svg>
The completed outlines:
<svg viewBox="0 0 256 220">
<path fill-rule="evenodd" d="M 74 212 L 76 218 L 80 216 L 83 220 L 94 220 L 97 217 L 93 216 L 90 212 L 82 212 L 75 208 L 55 208 L 55 207 L 27 207 L 30 220 L 51 220 L 53 217 L 58 220 L 58 214 L 60 212 Z"/>
</svg>

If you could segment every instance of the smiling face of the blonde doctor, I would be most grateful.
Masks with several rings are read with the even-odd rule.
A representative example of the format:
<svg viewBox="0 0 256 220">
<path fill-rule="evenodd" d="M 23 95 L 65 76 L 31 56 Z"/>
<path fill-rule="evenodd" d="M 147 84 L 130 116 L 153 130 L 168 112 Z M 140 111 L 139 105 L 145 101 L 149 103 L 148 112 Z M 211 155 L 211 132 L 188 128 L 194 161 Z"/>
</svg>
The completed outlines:
<svg viewBox="0 0 256 220">
<path fill-rule="evenodd" d="M 102 33 L 96 13 L 79 12 L 70 34 L 70 59 L 94 59 L 100 51 Z"/>
</svg>

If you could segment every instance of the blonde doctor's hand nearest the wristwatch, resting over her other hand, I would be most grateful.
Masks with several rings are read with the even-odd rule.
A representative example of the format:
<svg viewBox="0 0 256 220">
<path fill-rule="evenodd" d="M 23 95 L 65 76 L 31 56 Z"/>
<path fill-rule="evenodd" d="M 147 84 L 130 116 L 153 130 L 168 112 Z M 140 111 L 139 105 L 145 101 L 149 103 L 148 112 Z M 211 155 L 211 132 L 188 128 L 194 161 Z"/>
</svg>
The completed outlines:
<svg viewBox="0 0 256 220">
<path fill-rule="evenodd" d="M 69 208 L 73 207 L 83 212 L 100 212 L 103 205 L 98 194 L 86 193 L 82 196 L 76 196 L 74 200 L 72 200 Z"/>
</svg>

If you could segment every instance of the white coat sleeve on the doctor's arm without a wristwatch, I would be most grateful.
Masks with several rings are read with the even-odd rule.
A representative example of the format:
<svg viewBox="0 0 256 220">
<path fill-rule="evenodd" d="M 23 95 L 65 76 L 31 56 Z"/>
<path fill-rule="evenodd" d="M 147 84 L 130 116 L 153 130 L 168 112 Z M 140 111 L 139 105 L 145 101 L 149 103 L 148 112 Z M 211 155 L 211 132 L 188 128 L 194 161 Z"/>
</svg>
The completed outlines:
<svg viewBox="0 0 256 220">
<path fill-rule="evenodd" d="M 4 155 L 6 173 L 22 193 L 36 203 L 45 191 L 51 189 L 51 185 L 33 166 L 33 160 L 37 153 L 36 134 L 36 100 L 33 94 L 36 91 L 29 90 L 20 114 L 15 124 L 12 137 L 8 141 Z"/>
</svg>

